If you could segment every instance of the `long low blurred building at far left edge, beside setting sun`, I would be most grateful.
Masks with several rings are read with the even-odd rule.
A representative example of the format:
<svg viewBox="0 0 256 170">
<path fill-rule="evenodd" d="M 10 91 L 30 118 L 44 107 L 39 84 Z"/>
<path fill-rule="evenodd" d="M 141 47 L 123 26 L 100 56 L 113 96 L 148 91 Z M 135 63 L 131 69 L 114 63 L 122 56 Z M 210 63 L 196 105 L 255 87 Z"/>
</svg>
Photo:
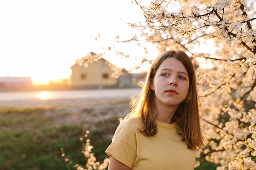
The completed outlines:
<svg viewBox="0 0 256 170">
<path fill-rule="evenodd" d="M 0 90 L 31 90 L 31 77 L 0 77 Z"/>
</svg>

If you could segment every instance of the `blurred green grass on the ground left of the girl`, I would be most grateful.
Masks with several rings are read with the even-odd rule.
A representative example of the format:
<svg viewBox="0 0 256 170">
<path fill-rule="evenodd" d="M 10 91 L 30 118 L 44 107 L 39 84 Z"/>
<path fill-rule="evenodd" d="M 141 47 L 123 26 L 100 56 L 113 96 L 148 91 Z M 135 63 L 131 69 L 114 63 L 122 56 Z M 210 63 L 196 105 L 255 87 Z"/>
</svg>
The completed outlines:
<svg viewBox="0 0 256 170">
<path fill-rule="evenodd" d="M 56 124 L 56 119 L 62 119 L 60 113 L 47 116 L 45 113 L 49 111 L 54 113 L 56 110 L 0 108 L 0 170 L 65 170 L 61 148 L 71 163 L 85 165 L 79 138 L 86 120 L 77 124 Z M 111 126 L 106 128 L 110 123 Z M 99 161 L 107 157 L 104 152 L 110 144 L 110 139 L 102 140 L 103 135 L 113 134 L 118 124 L 117 119 L 100 121 L 96 124 L 97 130 L 90 133 L 93 152 Z"/>
</svg>

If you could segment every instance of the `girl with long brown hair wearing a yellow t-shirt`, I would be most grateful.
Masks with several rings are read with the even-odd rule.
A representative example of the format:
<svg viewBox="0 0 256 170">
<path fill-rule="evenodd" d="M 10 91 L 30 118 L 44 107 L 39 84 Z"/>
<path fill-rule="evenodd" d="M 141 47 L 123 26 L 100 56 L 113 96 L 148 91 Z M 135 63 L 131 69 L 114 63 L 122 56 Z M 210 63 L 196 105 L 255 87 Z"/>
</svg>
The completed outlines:
<svg viewBox="0 0 256 170">
<path fill-rule="evenodd" d="M 117 127 L 108 170 L 193 170 L 202 144 L 193 64 L 183 51 L 166 51 Z"/>
</svg>

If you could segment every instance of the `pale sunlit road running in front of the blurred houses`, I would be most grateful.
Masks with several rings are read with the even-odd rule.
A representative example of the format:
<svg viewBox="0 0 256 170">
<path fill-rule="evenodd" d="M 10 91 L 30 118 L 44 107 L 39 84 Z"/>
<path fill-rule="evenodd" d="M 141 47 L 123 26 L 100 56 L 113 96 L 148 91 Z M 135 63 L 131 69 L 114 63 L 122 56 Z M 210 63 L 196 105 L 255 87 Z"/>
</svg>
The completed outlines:
<svg viewBox="0 0 256 170">
<path fill-rule="evenodd" d="M 84 104 L 113 99 L 130 99 L 140 88 L 73 90 L 73 91 L 26 91 L 1 92 L 0 106 L 49 106 L 56 104 Z"/>
</svg>

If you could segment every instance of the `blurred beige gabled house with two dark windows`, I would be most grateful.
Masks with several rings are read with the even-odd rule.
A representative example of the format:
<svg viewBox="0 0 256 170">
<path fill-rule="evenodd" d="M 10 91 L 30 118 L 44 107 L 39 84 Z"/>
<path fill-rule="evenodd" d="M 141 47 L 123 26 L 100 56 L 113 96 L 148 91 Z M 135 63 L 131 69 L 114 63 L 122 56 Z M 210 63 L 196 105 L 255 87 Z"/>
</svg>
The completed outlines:
<svg viewBox="0 0 256 170">
<path fill-rule="evenodd" d="M 90 53 L 90 56 L 96 55 Z M 112 76 L 115 73 L 110 68 L 108 61 L 99 58 L 98 61 L 85 60 L 82 64 L 74 64 L 70 67 L 72 70 L 70 85 L 74 89 L 86 88 L 116 88 L 116 87 L 129 87 L 132 85 L 132 77 L 130 74 L 123 70 L 123 75 L 119 78 Z"/>
</svg>

